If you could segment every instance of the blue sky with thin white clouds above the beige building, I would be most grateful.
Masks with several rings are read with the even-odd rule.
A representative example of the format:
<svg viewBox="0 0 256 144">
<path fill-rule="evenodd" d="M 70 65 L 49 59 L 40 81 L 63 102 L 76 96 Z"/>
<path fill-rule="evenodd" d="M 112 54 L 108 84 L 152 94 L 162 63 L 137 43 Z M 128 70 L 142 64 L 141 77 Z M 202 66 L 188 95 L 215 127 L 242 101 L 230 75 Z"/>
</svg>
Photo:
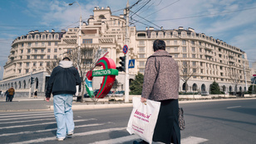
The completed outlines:
<svg viewBox="0 0 256 144">
<path fill-rule="evenodd" d="M 1 0 L 0 1 L 0 79 L 12 41 L 28 31 L 60 31 L 78 26 L 80 8 L 72 0 Z M 111 7 L 113 15 L 122 14 L 127 0 L 76 0 L 81 6 L 83 21 L 93 14 L 93 8 Z M 130 0 L 130 6 L 138 0 Z M 140 10 L 139 12 L 137 12 Z M 145 26 L 163 26 L 165 30 L 179 26 L 192 27 L 198 33 L 213 36 L 248 55 L 249 63 L 256 61 L 256 1 L 255 0 L 141 0 L 131 8 L 130 21 L 137 30 Z M 132 14 L 132 13 L 131 13 Z M 152 22 L 147 22 L 146 20 Z M 143 24 L 142 24 L 143 23 Z"/>
</svg>

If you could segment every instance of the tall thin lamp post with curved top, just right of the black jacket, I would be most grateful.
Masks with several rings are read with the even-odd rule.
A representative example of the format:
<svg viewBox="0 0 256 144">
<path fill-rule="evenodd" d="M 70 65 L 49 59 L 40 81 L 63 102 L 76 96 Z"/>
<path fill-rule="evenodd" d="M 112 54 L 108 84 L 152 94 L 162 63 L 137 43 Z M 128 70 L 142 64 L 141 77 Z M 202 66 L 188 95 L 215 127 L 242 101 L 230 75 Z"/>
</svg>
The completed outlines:
<svg viewBox="0 0 256 144">
<path fill-rule="evenodd" d="M 76 1 L 75 1 L 76 2 Z M 71 2 L 68 5 L 71 6 L 73 5 L 75 2 Z M 81 6 L 78 2 L 76 2 L 80 8 L 80 20 L 79 20 L 79 31 L 78 31 L 78 51 L 77 51 L 77 70 L 80 73 L 80 51 L 81 51 Z M 76 86 L 76 96 L 78 95 L 78 89 L 79 86 Z"/>
</svg>

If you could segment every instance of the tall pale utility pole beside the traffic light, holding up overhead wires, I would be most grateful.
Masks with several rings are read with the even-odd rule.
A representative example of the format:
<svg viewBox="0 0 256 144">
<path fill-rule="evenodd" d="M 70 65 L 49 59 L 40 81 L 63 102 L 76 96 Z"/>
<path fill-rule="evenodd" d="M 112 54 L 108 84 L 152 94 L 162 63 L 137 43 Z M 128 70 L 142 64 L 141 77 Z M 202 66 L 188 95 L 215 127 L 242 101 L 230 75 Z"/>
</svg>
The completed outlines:
<svg viewBox="0 0 256 144">
<path fill-rule="evenodd" d="M 126 4 L 126 46 L 128 47 L 126 53 L 126 89 L 125 89 L 125 103 L 129 103 L 129 69 L 128 69 L 128 62 L 129 62 L 129 0 L 127 0 Z"/>
</svg>

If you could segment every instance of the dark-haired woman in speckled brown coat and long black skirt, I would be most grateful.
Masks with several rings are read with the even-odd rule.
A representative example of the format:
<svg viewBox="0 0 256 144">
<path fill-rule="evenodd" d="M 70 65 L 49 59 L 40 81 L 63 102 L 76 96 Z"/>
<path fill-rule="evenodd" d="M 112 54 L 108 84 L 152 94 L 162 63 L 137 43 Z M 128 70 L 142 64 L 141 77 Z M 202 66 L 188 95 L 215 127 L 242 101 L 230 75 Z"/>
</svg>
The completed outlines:
<svg viewBox="0 0 256 144">
<path fill-rule="evenodd" d="M 144 83 L 140 101 L 160 102 L 160 112 L 153 134 L 153 142 L 180 144 L 179 127 L 179 66 L 165 51 L 165 41 L 155 40 L 154 54 L 146 61 Z M 148 143 L 133 142 L 137 143 Z"/>
</svg>

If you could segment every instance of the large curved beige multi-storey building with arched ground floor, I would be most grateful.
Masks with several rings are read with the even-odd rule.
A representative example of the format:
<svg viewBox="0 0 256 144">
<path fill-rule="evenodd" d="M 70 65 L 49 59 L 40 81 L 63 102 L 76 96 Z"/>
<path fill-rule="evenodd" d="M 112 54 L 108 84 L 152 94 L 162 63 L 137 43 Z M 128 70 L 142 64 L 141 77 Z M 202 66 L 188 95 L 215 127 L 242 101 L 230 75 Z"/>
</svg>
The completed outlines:
<svg viewBox="0 0 256 144">
<path fill-rule="evenodd" d="M 106 57 L 113 59 L 119 66 L 119 57 L 123 56 L 122 47 L 126 38 L 126 17 L 111 15 L 110 7 L 95 7 L 94 15 L 81 25 L 81 49 L 109 51 Z M 44 94 L 47 79 L 47 66 L 52 61 L 62 59 L 78 45 L 79 27 L 68 28 L 67 31 L 30 31 L 26 36 L 17 37 L 12 42 L 12 49 L 4 66 L 3 80 L 0 89 L 10 86 L 17 94 L 26 96 L 30 92 L 30 78 L 36 79 L 32 91 Z M 166 51 L 180 65 L 180 92 L 209 92 L 209 85 L 214 81 L 219 83 L 225 92 L 246 91 L 251 84 L 249 61 L 243 50 L 235 46 L 196 33 L 194 29 L 179 27 L 173 30 L 155 30 L 149 27 L 145 31 L 137 31 L 135 26 L 129 26 L 129 57 L 135 59 L 135 68 L 129 70 L 130 79 L 138 72 L 144 73 L 147 58 L 154 53 L 153 42 L 164 40 Z M 84 65 L 93 63 L 95 53 L 81 61 Z M 85 69 L 86 72 L 86 69 Z M 187 86 L 182 78 L 187 80 Z M 124 73 L 116 77 L 115 89 L 125 88 Z M 95 89 L 100 88 L 101 79 L 93 82 Z"/>
</svg>

